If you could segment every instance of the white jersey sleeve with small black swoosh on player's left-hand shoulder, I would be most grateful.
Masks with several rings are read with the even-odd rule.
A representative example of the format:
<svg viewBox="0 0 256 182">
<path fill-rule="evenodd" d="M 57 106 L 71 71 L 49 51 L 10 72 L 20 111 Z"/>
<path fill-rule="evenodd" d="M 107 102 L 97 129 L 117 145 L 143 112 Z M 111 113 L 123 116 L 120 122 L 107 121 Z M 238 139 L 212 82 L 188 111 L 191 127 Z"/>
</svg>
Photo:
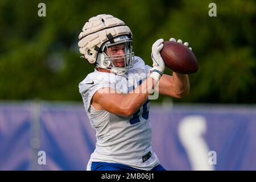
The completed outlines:
<svg viewBox="0 0 256 182">
<path fill-rule="evenodd" d="M 93 95 L 101 88 L 112 88 L 115 89 L 115 86 L 104 79 L 99 80 L 98 78 L 85 78 L 84 81 L 79 84 L 79 92 L 84 101 L 84 108 L 87 112 L 90 112 L 90 102 L 92 101 Z"/>
</svg>

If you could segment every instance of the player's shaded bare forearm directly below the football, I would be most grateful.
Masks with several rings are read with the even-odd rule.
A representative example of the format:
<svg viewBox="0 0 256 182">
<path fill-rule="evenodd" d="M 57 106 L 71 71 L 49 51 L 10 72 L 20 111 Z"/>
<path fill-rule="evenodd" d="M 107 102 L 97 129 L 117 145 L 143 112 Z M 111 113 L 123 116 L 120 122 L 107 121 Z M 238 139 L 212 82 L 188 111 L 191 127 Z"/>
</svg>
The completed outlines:
<svg viewBox="0 0 256 182">
<path fill-rule="evenodd" d="M 188 75 L 173 73 L 172 79 L 174 81 L 174 92 L 177 97 L 187 96 L 189 93 L 189 78 Z"/>
</svg>

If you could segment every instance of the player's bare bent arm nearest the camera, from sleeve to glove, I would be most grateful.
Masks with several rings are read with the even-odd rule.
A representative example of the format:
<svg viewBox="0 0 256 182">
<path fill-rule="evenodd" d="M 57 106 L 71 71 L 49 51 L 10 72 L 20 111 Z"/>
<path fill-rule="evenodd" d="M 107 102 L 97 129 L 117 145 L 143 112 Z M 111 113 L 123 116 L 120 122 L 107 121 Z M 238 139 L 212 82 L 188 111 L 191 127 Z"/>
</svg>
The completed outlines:
<svg viewBox="0 0 256 182">
<path fill-rule="evenodd" d="M 105 109 L 110 113 L 129 117 L 147 101 L 154 84 L 156 81 L 147 77 L 141 85 L 127 94 L 115 92 L 111 88 L 101 88 L 94 94 L 91 104 L 98 110 Z"/>
</svg>

